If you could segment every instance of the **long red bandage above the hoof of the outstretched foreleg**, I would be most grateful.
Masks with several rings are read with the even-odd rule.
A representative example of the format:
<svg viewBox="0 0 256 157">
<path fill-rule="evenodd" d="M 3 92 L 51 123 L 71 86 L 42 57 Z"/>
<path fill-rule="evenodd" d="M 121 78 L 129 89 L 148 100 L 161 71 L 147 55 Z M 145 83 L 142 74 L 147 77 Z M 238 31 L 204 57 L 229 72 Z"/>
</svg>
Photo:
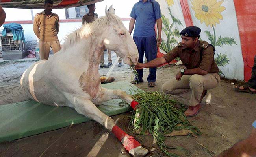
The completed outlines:
<svg viewBox="0 0 256 157">
<path fill-rule="evenodd" d="M 115 136 L 117 137 L 117 139 L 119 139 L 119 141 L 122 141 L 122 139 L 124 137 L 127 137 L 126 140 L 124 141 L 123 145 L 124 148 L 126 150 L 128 150 L 128 152 L 138 146 L 141 146 L 141 144 L 139 144 L 138 141 L 136 141 L 134 139 L 134 137 L 129 136 L 128 134 L 126 134 L 121 128 L 119 128 L 118 126 L 113 126 L 112 128 L 112 132 L 115 134 Z"/>
</svg>

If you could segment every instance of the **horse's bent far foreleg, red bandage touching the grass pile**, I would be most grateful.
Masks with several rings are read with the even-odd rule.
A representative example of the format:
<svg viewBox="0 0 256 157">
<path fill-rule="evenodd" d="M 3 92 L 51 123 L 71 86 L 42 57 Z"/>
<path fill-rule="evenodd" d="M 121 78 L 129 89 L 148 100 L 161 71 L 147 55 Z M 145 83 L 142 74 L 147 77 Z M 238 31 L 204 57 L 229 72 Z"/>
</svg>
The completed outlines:
<svg viewBox="0 0 256 157">
<path fill-rule="evenodd" d="M 125 91 L 121 90 L 111 90 L 106 88 L 101 88 L 100 94 L 94 102 L 99 104 L 100 102 L 105 102 L 111 99 L 122 99 L 125 100 L 130 106 L 135 110 L 136 106 L 139 104 L 137 101 L 132 99 Z"/>
</svg>

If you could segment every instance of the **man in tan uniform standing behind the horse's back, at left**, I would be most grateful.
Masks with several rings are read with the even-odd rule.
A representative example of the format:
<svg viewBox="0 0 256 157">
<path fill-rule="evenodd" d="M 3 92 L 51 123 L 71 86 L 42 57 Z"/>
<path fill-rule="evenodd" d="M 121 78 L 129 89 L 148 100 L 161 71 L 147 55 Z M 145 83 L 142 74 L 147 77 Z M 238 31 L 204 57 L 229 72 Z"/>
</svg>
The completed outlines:
<svg viewBox="0 0 256 157">
<path fill-rule="evenodd" d="M 48 59 L 50 48 L 54 53 L 60 50 L 59 39 L 59 16 L 52 13 L 52 0 L 45 0 L 45 10 L 35 15 L 33 31 L 39 38 L 40 60 Z"/>
</svg>

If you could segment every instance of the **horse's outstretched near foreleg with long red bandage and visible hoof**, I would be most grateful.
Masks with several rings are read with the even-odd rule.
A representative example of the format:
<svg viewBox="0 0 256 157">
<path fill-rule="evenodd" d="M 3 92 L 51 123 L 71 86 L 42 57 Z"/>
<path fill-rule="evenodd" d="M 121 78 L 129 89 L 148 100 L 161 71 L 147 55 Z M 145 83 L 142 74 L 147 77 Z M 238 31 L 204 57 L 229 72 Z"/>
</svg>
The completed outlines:
<svg viewBox="0 0 256 157">
<path fill-rule="evenodd" d="M 105 126 L 108 130 L 111 130 L 115 136 L 122 142 L 124 148 L 134 157 L 143 157 L 148 153 L 148 150 L 143 148 L 134 137 L 126 134 L 121 128 L 115 125 L 115 122 L 111 117 L 100 111 L 91 100 L 77 97 L 73 99 L 75 110 L 82 115 L 85 115 L 96 122 L 99 122 Z"/>
</svg>

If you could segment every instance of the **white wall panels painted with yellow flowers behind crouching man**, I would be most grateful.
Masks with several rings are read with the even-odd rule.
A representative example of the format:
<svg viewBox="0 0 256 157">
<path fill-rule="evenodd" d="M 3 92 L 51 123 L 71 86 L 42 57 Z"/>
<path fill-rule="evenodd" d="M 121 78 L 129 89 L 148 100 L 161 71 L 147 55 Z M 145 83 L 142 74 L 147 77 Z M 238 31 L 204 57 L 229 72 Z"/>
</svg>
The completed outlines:
<svg viewBox="0 0 256 157">
<path fill-rule="evenodd" d="M 179 32 L 186 27 L 183 8 L 180 0 L 158 2 L 163 21 L 160 49 L 168 53 L 181 41 Z M 243 57 L 233 0 L 189 0 L 187 4 L 192 24 L 202 29 L 200 40 L 206 40 L 216 49 L 215 61 L 221 75 L 243 80 Z"/>
</svg>

